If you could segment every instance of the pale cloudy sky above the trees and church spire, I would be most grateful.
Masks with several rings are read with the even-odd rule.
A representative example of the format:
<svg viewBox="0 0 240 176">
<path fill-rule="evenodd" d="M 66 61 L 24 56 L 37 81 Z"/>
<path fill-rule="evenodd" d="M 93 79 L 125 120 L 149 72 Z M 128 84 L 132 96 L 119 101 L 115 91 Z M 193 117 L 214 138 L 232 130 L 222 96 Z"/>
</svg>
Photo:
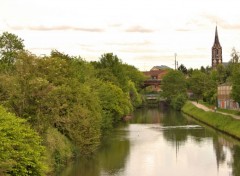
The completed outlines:
<svg viewBox="0 0 240 176">
<path fill-rule="evenodd" d="M 140 70 L 211 65 L 215 27 L 223 61 L 240 51 L 238 0 L 0 0 L 0 33 L 34 54 L 57 49 L 87 61 L 111 52 Z"/>
</svg>

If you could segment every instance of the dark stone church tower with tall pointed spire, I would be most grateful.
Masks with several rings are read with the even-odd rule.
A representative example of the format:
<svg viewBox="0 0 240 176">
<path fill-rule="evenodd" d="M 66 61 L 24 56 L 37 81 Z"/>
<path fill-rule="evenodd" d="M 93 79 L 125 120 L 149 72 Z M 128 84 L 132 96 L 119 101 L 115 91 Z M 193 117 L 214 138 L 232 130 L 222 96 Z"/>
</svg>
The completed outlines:
<svg viewBox="0 0 240 176">
<path fill-rule="evenodd" d="M 222 47 L 218 39 L 217 26 L 215 30 L 215 40 L 212 47 L 212 68 L 216 69 L 218 64 L 222 63 Z"/>
</svg>

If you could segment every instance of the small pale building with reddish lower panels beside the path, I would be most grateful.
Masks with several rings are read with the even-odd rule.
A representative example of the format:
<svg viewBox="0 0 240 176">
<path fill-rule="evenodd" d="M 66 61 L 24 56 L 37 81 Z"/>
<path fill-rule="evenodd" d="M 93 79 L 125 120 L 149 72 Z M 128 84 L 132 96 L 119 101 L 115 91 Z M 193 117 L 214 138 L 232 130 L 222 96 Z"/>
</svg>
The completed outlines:
<svg viewBox="0 0 240 176">
<path fill-rule="evenodd" d="M 231 98 L 232 86 L 225 83 L 218 86 L 218 107 L 222 109 L 238 109 L 239 104 Z"/>
</svg>

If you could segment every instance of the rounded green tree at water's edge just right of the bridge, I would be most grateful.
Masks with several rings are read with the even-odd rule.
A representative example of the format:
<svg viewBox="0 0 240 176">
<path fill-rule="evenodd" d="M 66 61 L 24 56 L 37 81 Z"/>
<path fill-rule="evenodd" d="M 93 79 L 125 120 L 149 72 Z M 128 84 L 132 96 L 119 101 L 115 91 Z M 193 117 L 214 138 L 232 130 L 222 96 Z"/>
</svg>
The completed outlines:
<svg viewBox="0 0 240 176">
<path fill-rule="evenodd" d="M 177 110 L 187 100 L 187 84 L 182 72 L 171 70 L 162 80 L 162 95 Z"/>
</svg>

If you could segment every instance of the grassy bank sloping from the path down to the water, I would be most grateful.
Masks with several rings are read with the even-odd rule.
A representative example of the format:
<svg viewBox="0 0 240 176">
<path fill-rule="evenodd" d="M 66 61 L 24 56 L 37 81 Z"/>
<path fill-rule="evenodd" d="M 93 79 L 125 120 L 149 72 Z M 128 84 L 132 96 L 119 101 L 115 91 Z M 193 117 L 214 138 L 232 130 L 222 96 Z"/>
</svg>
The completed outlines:
<svg viewBox="0 0 240 176">
<path fill-rule="evenodd" d="M 233 119 L 228 115 L 206 112 L 202 109 L 198 109 L 190 102 L 187 102 L 183 106 L 182 111 L 217 130 L 240 139 L 240 120 Z"/>
</svg>

